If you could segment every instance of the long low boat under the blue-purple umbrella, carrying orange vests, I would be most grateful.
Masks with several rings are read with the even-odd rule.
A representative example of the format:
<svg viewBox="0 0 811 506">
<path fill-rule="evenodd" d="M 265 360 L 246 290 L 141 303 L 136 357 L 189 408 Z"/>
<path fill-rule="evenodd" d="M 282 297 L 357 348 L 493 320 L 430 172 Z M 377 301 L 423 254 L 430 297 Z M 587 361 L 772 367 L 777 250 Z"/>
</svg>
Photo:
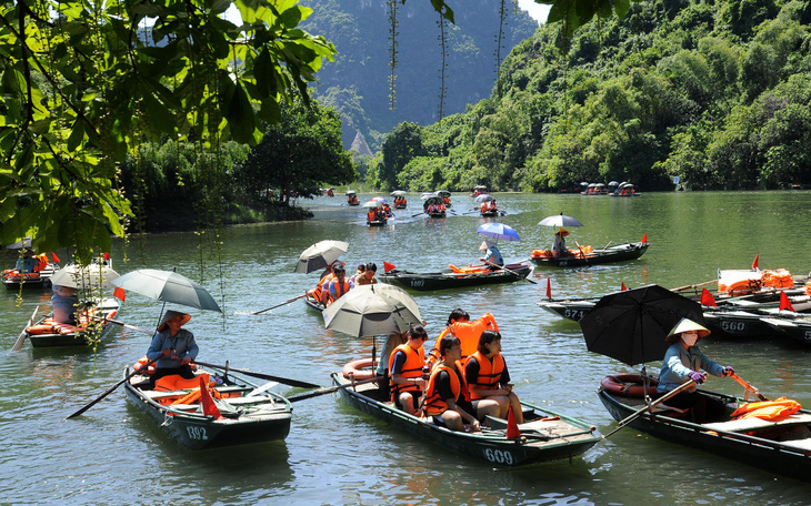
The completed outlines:
<svg viewBox="0 0 811 506">
<path fill-rule="evenodd" d="M 396 284 L 406 289 L 431 291 L 447 289 L 462 289 L 492 283 L 511 283 L 525 279 L 532 272 L 532 266 L 524 263 L 504 265 L 503 271 L 490 271 L 485 266 L 459 269 L 450 266 L 442 272 L 415 273 L 411 271 L 392 270 L 378 273 L 378 280 L 383 283 Z M 512 272 L 508 272 L 512 271 Z"/>
</svg>

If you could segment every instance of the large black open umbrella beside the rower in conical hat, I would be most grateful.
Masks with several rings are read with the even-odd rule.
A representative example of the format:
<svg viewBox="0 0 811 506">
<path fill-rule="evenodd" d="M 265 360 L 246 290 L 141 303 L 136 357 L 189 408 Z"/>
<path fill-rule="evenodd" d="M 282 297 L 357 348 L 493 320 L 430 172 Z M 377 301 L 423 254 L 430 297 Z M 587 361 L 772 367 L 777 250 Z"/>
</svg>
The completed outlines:
<svg viewBox="0 0 811 506">
<path fill-rule="evenodd" d="M 580 328 L 590 352 L 637 365 L 664 357 L 664 337 L 682 317 L 702 323 L 701 305 L 648 285 L 600 298 L 580 320 Z"/>
</svg>

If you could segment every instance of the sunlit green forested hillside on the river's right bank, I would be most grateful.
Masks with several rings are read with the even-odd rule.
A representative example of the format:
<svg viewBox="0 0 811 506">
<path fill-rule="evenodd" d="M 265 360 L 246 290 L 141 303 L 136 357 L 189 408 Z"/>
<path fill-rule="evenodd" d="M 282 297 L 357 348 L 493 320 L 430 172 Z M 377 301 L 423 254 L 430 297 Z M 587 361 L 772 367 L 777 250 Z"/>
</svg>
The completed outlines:
<svg viewBox="0 0 811 506">
<path fill-rule="evenodd" d="M 382 188 L 643 191 L 811 183 L 811 2 L 643 1 L 625 19 L 541 28 L 492 97 L 430 126 L 403 123 Z"/>
</svg>

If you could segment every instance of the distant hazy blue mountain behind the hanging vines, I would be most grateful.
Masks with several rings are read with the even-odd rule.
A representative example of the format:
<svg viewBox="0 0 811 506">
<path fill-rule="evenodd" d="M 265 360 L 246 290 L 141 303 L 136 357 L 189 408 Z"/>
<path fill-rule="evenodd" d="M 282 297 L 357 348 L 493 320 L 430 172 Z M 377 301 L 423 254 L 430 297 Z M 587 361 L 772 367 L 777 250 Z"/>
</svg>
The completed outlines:
<svg viewBox="0 0 811 506">
<path fill-rule="evenodd" d="M 313 95 L 341 113 L 342 138 L 349 148 L 360 130 L 377 151 L 386 132 L 402 121 L 420 124 L 440 119 L 442 90 L 439 14 L 425 1 L 397 3 L 397 69 L 394 110 L 389 78 L 390 38 L 387 0 L 302 0 L 314 9 L 302 28 L 336 44 L 334 62 L 318 72 Z M 504 1 L 464 0 L 455 9 L 455 24 L 444 24 L 445 92 L 443 115 L 462 112 L 469 103 L 490 97 L 500 61 L 538 24 L 529 14 Z M 500 55 L 500 60 L 497 57 Z"/>
</svg>

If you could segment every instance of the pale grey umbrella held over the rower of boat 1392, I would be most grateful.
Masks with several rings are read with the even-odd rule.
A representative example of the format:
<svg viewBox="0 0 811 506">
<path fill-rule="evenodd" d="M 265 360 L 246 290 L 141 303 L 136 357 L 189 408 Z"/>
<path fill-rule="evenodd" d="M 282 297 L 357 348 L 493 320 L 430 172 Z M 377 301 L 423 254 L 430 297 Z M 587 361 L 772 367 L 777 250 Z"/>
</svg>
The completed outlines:
<svg viewBox="0 0 811 506">
<path fill-rule="evenodd" d="M 156 301 L 222 313 L 208 290 L 177 272 L 139 269 L 114 279 L 112 284 Z"/>
</svg>

